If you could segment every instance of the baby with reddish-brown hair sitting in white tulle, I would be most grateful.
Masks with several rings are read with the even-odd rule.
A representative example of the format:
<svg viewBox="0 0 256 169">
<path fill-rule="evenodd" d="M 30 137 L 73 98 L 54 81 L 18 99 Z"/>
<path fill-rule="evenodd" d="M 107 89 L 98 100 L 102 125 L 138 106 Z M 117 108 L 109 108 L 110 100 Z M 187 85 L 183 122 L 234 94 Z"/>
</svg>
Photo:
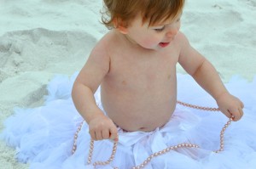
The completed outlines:
<svg viewBox="0 0 256 169">
<path fill-rule="evenodd" d="M 216 100 L 234 121 L 243 104 L 231 95 L 212 64 L 179 31 L 184 0 L 104 0 L 102 22 L 111 30 L 96 44 L 73 84 L 73 103 L 93 140 L 125 131 L 153 131 L 172 118 L 177 104 L 176 65 Z M 104 110 L 94 93 L 101 88 Z"/>
</svg>

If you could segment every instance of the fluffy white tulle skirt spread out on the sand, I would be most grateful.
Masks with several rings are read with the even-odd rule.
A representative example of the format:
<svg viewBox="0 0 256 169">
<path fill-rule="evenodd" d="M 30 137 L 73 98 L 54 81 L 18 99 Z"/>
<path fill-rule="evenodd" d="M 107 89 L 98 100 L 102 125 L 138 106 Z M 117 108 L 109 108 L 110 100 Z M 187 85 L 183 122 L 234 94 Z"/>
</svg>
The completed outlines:
<svg viewBox="0 0 256 169">
<path fill-rule="evenodd" d="M 49 82 L 45 104 L 34 109 L 16 109 L 5 121 L 2 138 L 17 150 L 17 160 L 30 163 L 32 169 L 94 168 L 95 161 L 108 161 L 113 142 L 96 141 L 91 164 L 88 126 L 84 123 L 72 153 L 74 134 L 83 121 L 73 105 L 71 89 L 76 75 L 56 76 Z M 216 107 L 215 101 L 187 75 L 177 75 L 177 98 L 180 101 Z M 256 79 L 246 82 L 234 77 L 225 86 L 245 104 L 241 121 L 231 122 L 224 132 L 224 150 L 220 131 L 229 120 L 221 112 L 195 110 L 177 104 L 166 126 L 152 132 L 125 132 L 119 128 L 119 143 L 113 161 L 96 168 L 120 169 L 138 166 L 149 155 L 177 144 L 197 144 L 200 148 L 171 150 L 153 158 L 144 168 L 153 169 L 255 169 L 256 168 Z M 170 93 L 171 94 L 171 93 Z M 95 94 L 102 108 L 100 91 Z"/>
</svg>

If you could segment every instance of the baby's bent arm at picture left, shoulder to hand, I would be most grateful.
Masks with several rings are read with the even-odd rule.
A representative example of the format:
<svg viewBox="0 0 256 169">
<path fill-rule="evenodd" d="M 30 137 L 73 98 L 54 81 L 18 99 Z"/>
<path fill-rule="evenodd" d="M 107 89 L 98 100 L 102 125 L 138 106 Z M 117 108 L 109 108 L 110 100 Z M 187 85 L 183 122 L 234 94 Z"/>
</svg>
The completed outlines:
<svg viewBox="0 0 256 169">
<path fill-rule="evenodd" d="M 73 103 L 88 123 L 94 140 L 117 139 L 117 127 L 96 105 L 94 93 L 108 74 L 110 59 L 104 42 L 99 42 L 73 84 Z"/>
</svg>

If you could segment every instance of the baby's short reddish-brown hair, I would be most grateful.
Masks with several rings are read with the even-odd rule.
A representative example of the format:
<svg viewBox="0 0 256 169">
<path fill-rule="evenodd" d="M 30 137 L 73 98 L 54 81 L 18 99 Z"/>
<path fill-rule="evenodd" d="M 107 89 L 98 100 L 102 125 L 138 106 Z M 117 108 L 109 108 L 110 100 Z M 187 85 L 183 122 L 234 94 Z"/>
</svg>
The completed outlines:
<svg viewBox="0 0 256 169">
<path fill-rule="evenodd" d="M 155 25 L 179 14 L 185 0 L 103 0 L 102 23 L 113 29 L 115 26 L 129 26 L 137 14 L 142 14 L 143 23 Z M 115 22 L 115 25 L 114 25 Z"/>
</svg>

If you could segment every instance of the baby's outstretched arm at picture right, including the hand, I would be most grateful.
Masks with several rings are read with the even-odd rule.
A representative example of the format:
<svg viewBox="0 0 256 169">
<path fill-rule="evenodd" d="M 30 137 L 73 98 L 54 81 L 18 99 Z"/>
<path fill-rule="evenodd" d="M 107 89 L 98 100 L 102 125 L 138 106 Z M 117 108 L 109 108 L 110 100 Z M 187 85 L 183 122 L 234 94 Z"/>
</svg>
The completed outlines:
<svg viewBox="0 0 256 169">
<path fill-rule="evenodd" d="M 195 48 L 192 48 L 187 38 L 181 33 L 180 44 L 181 52 L 178 59 L 180 65 L 183 66 L 189 75 L 193 76 L 196 82 L 203 87 L 207 93 L 210 93 L 216 100 L 219 109 L 227 117 L 233 115 L 233 120 L 238 121 L 243 115 L 243 104 L 240 99 L 231 95 L 224 87 L 223 82 L 218 76 L 217 70 L 212 64 Z"/>
</svg>

